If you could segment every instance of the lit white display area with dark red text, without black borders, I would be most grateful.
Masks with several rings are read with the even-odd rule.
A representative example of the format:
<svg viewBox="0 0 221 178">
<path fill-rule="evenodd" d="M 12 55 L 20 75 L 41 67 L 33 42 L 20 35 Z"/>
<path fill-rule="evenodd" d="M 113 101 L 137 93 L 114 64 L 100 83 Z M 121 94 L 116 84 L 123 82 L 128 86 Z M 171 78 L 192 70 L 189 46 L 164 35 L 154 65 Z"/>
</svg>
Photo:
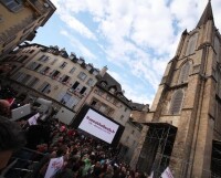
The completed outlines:
<svg viewBox="0 0 221 178">
<path fill-rule="evenodd" d="M 78 126 L 78 128 L 85 130 L 91 135 L 94 135 L 99 139 L 103 139 L 108 144 L 112 144 L 118 127 L 119 125 L 110 122 L 108 118 L 102 116 L 91 108 L 88 109 Z"/>
</svg>

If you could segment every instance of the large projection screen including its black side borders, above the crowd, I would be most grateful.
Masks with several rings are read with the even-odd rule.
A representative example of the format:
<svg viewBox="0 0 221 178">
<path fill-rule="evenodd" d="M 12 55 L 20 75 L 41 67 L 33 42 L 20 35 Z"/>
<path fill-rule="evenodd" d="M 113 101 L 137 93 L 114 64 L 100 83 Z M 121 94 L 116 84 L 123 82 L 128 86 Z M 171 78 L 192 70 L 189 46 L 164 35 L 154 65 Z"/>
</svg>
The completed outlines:
<svg viewBox="0 0 221 178">
<path fill-rule="evenodd" d="M 87 105 L 76 116 L 73 126 L 112 146 L 117 145 L 124 132 L 124 126 Z"/>
</svg>

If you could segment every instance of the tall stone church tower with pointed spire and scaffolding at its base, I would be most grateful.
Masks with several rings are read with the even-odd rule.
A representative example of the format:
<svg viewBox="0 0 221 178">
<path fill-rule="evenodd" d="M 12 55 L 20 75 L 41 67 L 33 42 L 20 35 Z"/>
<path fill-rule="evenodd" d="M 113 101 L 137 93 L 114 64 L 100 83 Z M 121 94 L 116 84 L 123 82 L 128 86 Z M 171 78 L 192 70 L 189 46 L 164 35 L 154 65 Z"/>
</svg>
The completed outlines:
<svg viewBox="0 0 221 178">
<path fill-rule="evenodd" d="M 156 177 L 221 176 L 221 35 L 209 1 L 196 29 L 183 31 L 168 63 L 134 163 Z M 221 169 L 221 168 L 220 168 Z"/>
</svg>

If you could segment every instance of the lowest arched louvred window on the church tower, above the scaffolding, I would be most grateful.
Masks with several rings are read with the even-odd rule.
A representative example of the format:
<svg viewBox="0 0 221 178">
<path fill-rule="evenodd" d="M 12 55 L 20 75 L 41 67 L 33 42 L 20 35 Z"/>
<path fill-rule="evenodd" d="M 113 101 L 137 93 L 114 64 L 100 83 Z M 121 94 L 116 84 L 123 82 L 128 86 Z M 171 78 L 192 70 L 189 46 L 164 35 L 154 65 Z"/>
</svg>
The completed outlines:
<svg viewBox="0 0 221 178">
<path fill-rule="evenodd" d="M 175 92 L 172 96 L 172 101 L 170 104 L 170 114 L 179 114 L 182 105 L 182 98 L 183 98 L 183 91 L 178 90 Z"/>
</svg>

